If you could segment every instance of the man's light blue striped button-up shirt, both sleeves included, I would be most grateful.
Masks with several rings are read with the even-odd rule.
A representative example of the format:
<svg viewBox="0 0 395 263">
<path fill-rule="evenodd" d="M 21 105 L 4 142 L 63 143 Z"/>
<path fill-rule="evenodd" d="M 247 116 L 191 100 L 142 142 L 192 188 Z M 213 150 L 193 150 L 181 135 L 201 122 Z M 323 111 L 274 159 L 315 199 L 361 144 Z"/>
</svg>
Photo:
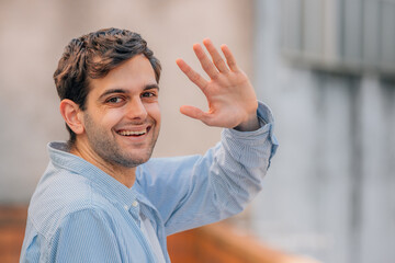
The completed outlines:
<svg viewBox="0 0 395 263">
<path fill-rule="evenodd" d="M 270 110 L 259 103 L 258 115 L 264 126 L 224 129 L 204 156 L 150 159 L 137 168 L 132 188 L 69 153 L 65 142 L 50 142 L 20 262 L 158 262 L 140 215 L 170 262 L 168 235 L 235 215 L 261 190 L 278 144 Z"/>
</svg>

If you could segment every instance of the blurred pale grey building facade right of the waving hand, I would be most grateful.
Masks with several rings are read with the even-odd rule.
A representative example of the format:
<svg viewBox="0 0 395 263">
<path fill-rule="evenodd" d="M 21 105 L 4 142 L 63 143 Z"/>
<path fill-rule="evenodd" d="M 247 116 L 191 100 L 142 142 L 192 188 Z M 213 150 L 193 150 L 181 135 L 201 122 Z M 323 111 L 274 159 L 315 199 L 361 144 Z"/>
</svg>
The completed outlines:
<svg viewBox="0 0 395 263">
<path fill-rule="evenodd" d="M 261 239 L 323 262 L 395 260 L 395 1 L 256 1 L 255 84 L 278 156 Z"/>
</svg>

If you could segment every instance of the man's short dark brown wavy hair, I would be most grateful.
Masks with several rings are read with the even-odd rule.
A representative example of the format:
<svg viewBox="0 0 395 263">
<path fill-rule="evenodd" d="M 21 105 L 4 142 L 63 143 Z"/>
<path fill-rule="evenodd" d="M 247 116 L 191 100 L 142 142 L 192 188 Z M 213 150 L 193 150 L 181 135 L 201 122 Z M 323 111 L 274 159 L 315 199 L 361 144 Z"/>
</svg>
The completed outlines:
<svg viewBox="0 0 395 263">
<path fill-rule="evenodd" d="M 147 47 L 147 42 L 137 33 L 104 28 L 71 39 L 54 73 L 60 100 L 69 99 L 84 111 L 89 78 L 103 78 L 116 66 L 140 54 L 151 64 L 156 80 L 159 82 L 160 61 Z M 72 145 L 76 141 L 76 134 L 67 124 L 66 127 L 70 134 L 69 144 Z"/>
</svg>

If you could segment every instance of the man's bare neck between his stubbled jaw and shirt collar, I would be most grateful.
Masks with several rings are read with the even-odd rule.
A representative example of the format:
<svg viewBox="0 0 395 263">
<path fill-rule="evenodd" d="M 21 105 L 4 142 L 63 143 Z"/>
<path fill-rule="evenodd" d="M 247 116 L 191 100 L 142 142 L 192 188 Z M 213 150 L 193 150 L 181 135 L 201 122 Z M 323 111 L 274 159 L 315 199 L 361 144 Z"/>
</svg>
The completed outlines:
<svg viewBox="0 0 395 263">
<path fill-rule="evenodd" d="M 78 156 L 86 161 L 92 163 L 106 174 L 114 178 L 126 187 L 131 188 L 136 180 L 136 167 L 126 168 L 116 163 L 109 163 L 100 158 L 94 151 L 86 149 L 77 141 L 70 147 L 70 153 Z"/>
</svg>

